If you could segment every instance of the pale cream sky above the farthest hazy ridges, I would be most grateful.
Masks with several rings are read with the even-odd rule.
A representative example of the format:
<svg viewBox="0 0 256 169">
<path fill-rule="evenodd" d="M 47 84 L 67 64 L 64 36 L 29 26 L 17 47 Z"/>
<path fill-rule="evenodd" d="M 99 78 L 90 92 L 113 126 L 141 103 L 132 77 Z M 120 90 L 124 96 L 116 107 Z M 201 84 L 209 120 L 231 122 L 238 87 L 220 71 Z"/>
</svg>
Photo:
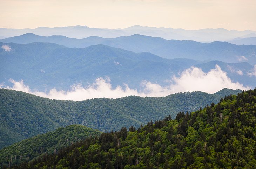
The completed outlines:
<svg viewBox="0 0 256 169">
<path fill-rule="evenodd" d="M 256 0 L 0 0 L 1 28 L 75 25 L 256 31 Z"/>
</svg>

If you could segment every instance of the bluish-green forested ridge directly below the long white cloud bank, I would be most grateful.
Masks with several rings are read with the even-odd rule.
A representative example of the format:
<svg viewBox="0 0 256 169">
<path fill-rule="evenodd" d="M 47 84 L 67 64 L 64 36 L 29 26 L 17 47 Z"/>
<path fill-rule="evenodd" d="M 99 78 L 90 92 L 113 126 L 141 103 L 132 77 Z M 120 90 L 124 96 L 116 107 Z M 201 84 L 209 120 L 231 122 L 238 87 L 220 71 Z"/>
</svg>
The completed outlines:
<svg viewBox="0 0 256 169">
<path fill-rule="evenodd" d="M 221 97 L 241 90 L 223 89 L 215 94 L 176 93 L 166 97 L 128 96 L 119 99 L 85 101 L 52 100 L 25 92 L 0 89 L 0 149 L 59 127 L 81 124 L 107 132 L 133 125 L 138 128 L 150 120 L 179 111 L 195 111 Z"/>
</svg>

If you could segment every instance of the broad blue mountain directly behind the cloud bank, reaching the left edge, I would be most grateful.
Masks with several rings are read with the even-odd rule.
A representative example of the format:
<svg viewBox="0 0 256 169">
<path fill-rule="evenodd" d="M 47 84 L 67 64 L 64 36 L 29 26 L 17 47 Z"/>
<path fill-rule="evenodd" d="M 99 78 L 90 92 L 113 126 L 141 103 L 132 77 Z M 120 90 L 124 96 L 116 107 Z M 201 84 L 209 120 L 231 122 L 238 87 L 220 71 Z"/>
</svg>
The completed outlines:
<svg viewBox="0 0 256 169">
<path fill-rule="evenodd" d="M 138 87 L 143 80 L 164 84 L 174 73 L 202 63 L 184 58 L 169 60 L 148 52 L 134 53 L 101 44 L 67 48 L 54 43 L 0 42 L 3 45 L 11 50 L 0 48 L 0 82 L 8 84 L 10 78 L 23 79 L 36 89 L 66 90 L 74 83 L 93 83 L 105 76 L 111 79 L 113 87 L 124 83 Z"/>
</svg>

